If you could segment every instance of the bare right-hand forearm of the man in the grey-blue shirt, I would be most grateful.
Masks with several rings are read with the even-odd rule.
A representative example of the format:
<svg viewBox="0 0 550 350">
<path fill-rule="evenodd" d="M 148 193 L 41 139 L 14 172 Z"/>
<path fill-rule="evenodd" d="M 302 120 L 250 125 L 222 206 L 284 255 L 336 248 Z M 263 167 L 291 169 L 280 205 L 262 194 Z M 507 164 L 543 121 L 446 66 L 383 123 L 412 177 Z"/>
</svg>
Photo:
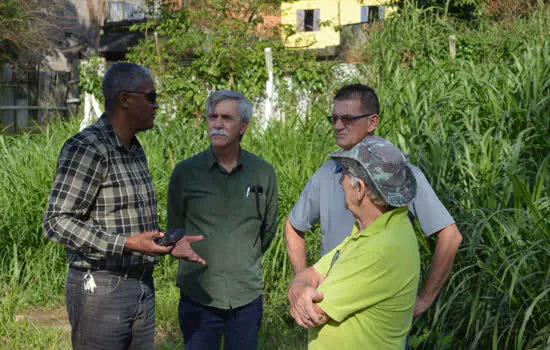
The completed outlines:
<svg viewBox="0 0 550 350">
<path fill-rule="evenodd" d="M 435 252 L 424 286 L 418 294 L 428 305 L 435 300 L 449 278 L 462 235 L 456 225 L 450 225 L 437 233 Z"/>
</svg>

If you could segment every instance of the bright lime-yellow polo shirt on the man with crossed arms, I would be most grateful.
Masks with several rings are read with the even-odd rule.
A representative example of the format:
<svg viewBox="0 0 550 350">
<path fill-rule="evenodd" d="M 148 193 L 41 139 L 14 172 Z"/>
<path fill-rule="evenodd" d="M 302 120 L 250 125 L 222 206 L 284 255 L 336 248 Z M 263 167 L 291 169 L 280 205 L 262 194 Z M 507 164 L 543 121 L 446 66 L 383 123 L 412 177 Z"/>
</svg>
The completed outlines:
<svg viewBox="0 0 550 350">
<path fill-rule="evenodd" d="M 407 207 L 348 236 L 314 267 L 326 277 L 318 305 L 330 320 L 310 328 L 308 349 L 404 349 L 420 274 Z"/>
</svg>

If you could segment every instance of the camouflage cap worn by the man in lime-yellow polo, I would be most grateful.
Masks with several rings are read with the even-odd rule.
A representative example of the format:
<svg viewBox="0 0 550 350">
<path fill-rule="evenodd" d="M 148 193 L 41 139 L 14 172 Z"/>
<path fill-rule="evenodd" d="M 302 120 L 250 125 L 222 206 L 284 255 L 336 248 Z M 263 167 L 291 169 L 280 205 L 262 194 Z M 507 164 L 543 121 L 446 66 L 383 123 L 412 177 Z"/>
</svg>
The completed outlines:
<svg viewBox="0 0 550 350">
<path fill-rule="evenodd" d="M 370 179 L 382 198 L 391 206 L 402 207 L 416 195 L 416 179 L 407 159 L 391 142 L 367 136 L 349 151 L 334 152 L 330 157 L 350 175 Z"/>
</svg>

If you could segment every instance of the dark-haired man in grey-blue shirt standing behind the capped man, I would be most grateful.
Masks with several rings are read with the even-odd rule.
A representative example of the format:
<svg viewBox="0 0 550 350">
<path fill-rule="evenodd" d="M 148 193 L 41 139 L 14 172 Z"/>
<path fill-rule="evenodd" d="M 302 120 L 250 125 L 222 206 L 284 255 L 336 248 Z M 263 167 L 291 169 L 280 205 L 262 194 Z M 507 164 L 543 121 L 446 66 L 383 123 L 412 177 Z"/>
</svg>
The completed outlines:
<svg viewBox="0 0 550 350">
<path fill-rule="evenodd" d="M 368 86 L 342 87 L 334 98 L 333 114 L 328 117 L 334 125 L 338 146 L 349 150 L 371 136 L 378 125 L 379 109 L 378 97 Z M 418 219 L 426 237 L 437 237 L 430 272 L 416 298 L 416 316 L 430 307 L 447 281 L 462 235 L 422 171 L 412 164 L 409 166 L 418 186 L 417 195 L 409 205 L 409 214 Z M 307 182 L 285 222 L 288 255 L 295 273 L 307 268 L 304 232 L 317 221 L 321 221 L 323 254 L 353 230 L 355 220 L 345 209 L 344 192 L 339 184 L 340 171 L 332 160 L 323 164 Z"/>
</svg>

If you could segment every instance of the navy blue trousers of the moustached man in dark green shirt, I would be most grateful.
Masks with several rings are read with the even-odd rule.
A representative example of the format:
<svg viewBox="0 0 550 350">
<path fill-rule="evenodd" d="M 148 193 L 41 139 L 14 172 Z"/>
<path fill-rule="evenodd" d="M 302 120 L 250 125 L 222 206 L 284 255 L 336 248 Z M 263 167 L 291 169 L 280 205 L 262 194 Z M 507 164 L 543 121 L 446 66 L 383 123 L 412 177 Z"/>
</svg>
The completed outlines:
<svg viewBox="0 0 550 350">
<path fill-rule="evenodd" d="M 256 350 L 262 297 L 236 309 L 205 306 L 181 295 L 179 321 L 185 350 Z"/>
</svg>

